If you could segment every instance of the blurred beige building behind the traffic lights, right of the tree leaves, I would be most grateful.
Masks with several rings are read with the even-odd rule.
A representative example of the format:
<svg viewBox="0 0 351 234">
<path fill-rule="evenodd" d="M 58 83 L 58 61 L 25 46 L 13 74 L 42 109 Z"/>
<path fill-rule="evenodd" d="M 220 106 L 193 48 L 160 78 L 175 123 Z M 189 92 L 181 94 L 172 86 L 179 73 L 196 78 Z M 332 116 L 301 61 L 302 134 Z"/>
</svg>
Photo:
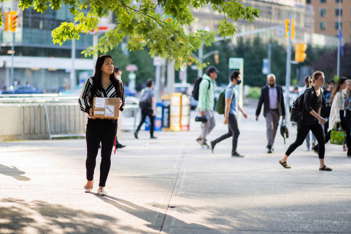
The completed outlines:
<svg viewBox="0 0 351 234">
<path fill-rule="evenodd" d="M 285 20 L 289 19 L 291 15 L 295 25 L 294 41 L 311 43 L 313 7 L 307 6 L 306 0 L 241 0 L 241 3 L 244 6 L 257 8 L 260 12 L 259 17 L 251 24 L 247 20 L 231 20 L 237 29 L 237 33 L 280 26 L 279 29 L 243 36 L 244 41 L 247 38 L 253 39 L 258 35 L 263 42 L 269 42 L 272 39 L 279 44 L 287 45 Z M 218 21 L 223 19 L 223 15 L 214 12 L 211 6 L 191 10 L 195 16 L 195 23 L 191 27 L 187 27 L 188 32 L 195 32 L 198 29 L 215 32 L 218 30 Z M 232 40 L 236 43 L 237 39 L 237 37 L 234 37 Z"/>
</svg>

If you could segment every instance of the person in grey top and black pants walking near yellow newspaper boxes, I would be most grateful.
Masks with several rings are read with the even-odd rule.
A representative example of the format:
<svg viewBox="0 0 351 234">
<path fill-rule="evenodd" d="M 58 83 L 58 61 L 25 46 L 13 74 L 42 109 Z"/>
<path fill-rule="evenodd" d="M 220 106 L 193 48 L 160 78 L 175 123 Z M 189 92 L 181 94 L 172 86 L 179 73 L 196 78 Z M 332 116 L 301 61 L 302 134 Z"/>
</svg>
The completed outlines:
<svg viewBox="0 0 351 234">
<path fill-rule="evenodd" d="M 149 116 L 150 118 L 150 138 L 156 139 L 156 136 L 153 135 L 156 114 L 156 99 L 155 91 L 153 90 L 153 80 L 148 79 L 146 81 L 146 86 L 146 88 L 141 90 L 141 98 L 139 102 L 139 106 L 141 108 L 141 120 L 137 130 L 134 132 L 134 137 L 136 139 L 138 139 L 138 132 L 145 122 L 146 116 Z"/>
</svg>

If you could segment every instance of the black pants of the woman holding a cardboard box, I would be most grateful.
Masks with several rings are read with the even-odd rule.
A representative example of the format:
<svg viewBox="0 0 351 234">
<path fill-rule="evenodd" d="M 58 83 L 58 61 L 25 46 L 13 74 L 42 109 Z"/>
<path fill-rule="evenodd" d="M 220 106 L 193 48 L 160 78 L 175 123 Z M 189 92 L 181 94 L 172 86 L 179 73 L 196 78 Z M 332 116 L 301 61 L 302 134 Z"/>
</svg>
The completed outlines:
<svg viewBox="0 0 351 234">
<path fill-rule="evenodd" d="M 110 119 L 88 119 L 86 128 L 87 159 L 85 166 L 87 180 L 94 178 L 96 156 L 101 142 L 101 163 L 99 186 L 105 187 L 108 172 L 111 167 L 111 153 L 114 138 L 117 133 L 117 121 Z"/>
</svg>

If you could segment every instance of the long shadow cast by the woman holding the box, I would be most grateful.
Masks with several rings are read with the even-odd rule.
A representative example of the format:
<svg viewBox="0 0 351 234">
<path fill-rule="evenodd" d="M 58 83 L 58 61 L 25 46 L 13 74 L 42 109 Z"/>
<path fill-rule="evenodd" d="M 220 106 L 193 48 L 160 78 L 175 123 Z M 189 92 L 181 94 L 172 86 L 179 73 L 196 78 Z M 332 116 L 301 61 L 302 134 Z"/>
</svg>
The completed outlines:
<svg viewBox="0 0 351 234">
<path fill-rule="evenodd" d="M 166 215 L 164 213 L 160 213 L 158 211 L 151 210 L 151 209 L 148 209 L 146 207 L 138 206 L 132 202 L 129 202 L 129 201 L 126 201 L 123 199 L 114 198 L 112 196 L 100 196 L 98 194 L 95 194 L 95 196 L 97 196 L 102 201 L 104 201 L 108 204 L 111 204 L 112 206 L 114 206 L 118 209 L 123 210 L 124 212 L 127 212 L 131 215 L 134 215 L 134 216 L 140 218 L 140 219 L 143 219 L 147 222 L 150 222 L 150 225 L 147 225 L 147 226 L 150 228 L 153 228 L 154 230 L 160 231 L 160 229 L 162 229 L 163 232 L 170 233 L 171 232 L 170 228 L 172 228 L 172 226 L 171 227 L 163 227 L 163 223 L 164 223 L 164 220 L 172 219 L 172 223 L 177 223 L 177 227 L 180 226 L 184 229 L 189 230 L 189 232 L 191 229 L 193 229 L 193 230 L 206 229 L 206 230 L 211 230 L 211 234 L 221 234 L 222 233 L 222 232 L 219 232 L 218 230 L 211 229 L 209 227 L 199 225 L 196 223 L 186 223 L 186 222 L 179 220 L 177 218 L 174 218 L 170 215 Z M 158 223 L 156 221 L 156 223 L 154 223 L 155 217 L 158 217 L 157 220 L 160 220 L 161 222 Z"/>
</svg>

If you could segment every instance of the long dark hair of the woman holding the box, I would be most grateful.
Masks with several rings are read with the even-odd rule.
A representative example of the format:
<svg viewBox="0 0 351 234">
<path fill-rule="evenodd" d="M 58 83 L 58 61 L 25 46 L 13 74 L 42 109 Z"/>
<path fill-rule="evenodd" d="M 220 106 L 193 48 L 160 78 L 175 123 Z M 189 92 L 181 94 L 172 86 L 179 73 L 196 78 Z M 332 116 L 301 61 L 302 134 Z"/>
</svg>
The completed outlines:
<svg viewBox="0 0 351 234">
<path fill-rule="evenodd" d="M 112 59 L 111 55 L 100 55 L 99 58 L 96 60 L 96 65 L 95 65 L 95 74 L 93 76 L 93 88 L 90 92 L 90 96 L 91 98 L 93 98 L 94 93 L 98 90 L 101 89 L 101 67 L 105 62 L 106 58 L 110 58 Z M 112 59 L 113 61 L 113 59 Z M 114 65 L 113 65 L 114 66 Z M 116 92 L 117 92 L 117 97 L 121 97 L 122 96 L 122 88 L 121 88 L 121 84 L 119 83 L 119 81 L 117 80 L 116 76 L 114 75 L 114 73 L 112 73 L 110 75 L 110 80 L 113 83 L 113 86 L 116 87 Z"/>
</svg>

